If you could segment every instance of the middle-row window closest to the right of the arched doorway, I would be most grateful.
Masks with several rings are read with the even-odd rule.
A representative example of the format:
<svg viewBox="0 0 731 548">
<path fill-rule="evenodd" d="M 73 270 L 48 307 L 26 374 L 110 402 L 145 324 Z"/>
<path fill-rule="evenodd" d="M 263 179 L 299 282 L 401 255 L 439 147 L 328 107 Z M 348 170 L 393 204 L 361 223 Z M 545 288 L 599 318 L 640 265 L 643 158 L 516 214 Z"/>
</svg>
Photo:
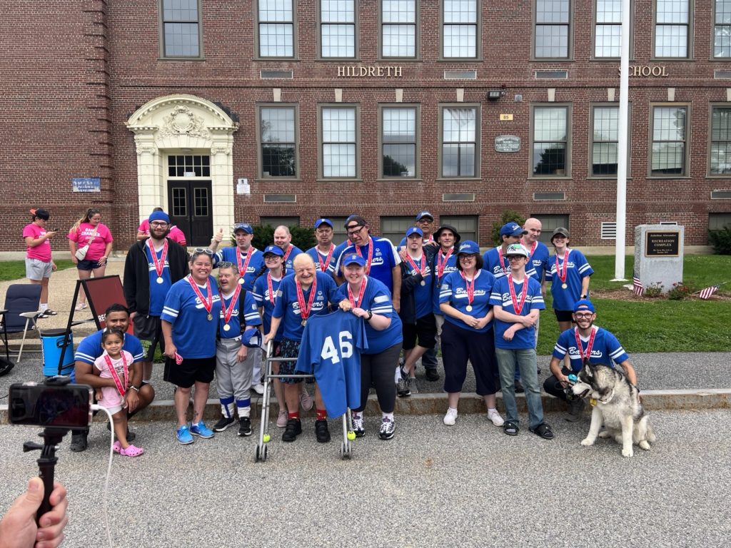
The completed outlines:
<svg viewBox="0 0 731 548">
<path fill-rule="evenodd" d="M 295 107 L 260 107 L 259 140 L 262 178 L 297 177 Z"/>
</svg>

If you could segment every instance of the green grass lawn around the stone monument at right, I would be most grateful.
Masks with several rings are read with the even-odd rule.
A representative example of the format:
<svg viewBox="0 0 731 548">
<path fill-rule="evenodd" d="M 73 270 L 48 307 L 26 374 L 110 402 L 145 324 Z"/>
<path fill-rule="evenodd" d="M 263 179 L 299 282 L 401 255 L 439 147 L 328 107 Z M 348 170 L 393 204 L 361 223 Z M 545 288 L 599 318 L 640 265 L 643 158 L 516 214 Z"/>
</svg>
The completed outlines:
<svg viewBox="0 0 731 548">
<path fill-rule="evenodd" d="M 614 277 L 614 256 L 589 256 L 594 268 L 591 290 L 619 289 L 624 283 Z M 625 275 L 632 279 L 630 256 Z M 694 290 L 728 281 L 717 294 L 724 300 L 690 298 L 673 301 L 635 299 L 629 289 L 626 300 L 594 297 L 596 324 L 613 332 L 632 354 L 634 352 L 729 351 L 731 349 L 731 256 L 691 255 L 683 262 L 683 278 Z M 558 338 L 558 322 L 551 310 L 550 292 L 541 314 L 538 353 L 550 354 Z"/>
</svg>

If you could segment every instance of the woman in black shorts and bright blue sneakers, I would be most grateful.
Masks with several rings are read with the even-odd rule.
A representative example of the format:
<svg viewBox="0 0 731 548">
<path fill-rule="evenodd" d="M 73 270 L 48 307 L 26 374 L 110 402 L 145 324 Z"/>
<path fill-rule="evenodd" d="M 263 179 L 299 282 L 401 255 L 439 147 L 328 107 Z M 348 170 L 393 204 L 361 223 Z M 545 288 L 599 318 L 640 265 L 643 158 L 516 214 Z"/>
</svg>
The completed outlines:
<svg viewBox="0 0 731 548">
<path fill-rule="evenodd" d="M 216 330 L 221 314 L 221 295 L 216 291 L 212 252 L 195 248 L 189 263 L 190 274 L 173 283 L 162 309 L 162 335 L 165 340 L 164 379 L 175 384 L 175 436 L 183 445 L 192 444 L 193 435 L 213 438 L 213 431 L 203 422 L 208 389 L 216 370 Z M 193 421 L 187 411 L 191 387 Z"/>
</svg>

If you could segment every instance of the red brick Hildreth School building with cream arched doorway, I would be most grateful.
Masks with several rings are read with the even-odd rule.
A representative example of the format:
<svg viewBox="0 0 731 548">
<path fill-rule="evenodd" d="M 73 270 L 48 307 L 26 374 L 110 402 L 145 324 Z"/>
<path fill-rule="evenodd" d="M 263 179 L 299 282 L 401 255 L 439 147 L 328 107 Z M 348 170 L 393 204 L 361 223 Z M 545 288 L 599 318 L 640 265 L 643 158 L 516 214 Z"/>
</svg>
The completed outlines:
<svg viewBox="0 0 731 548">
<path fill-rule="evenodd" d="M 156 205 L 189 243 L 235 220 L 354 212 L 395 235 L 428 209 L 485 246 L 513 209 L 613 246 L 620 5 L 14 2 L 0 251 L 21 247 L 34 205 L 62 231 L 101 209 L 117 249 Z M 627 243 L 675 222 L 703 245 L 731 220 L 731 2 L 631 8 Z"/>
</svg>

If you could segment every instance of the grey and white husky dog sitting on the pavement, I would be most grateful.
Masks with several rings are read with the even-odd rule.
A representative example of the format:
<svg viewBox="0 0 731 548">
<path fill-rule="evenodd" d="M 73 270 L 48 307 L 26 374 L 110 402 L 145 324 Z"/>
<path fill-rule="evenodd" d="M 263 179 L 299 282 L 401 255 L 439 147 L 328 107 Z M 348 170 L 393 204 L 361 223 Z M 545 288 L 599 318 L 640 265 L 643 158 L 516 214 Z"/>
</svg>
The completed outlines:
<svg viewBox="0 0 731 548">
<path fill-rule="evenodd" d="M 599 438 L 613 437 L 622 446 L 622 456 L 632 457 L 633 444 L 649 450 L 650 443 L 655 442 L 648 416 L 640 403 L 640 391 L 619 368 L 584 360 L 572 392 L 588 398 L 593 407 L 589 433 L 581 445 L 594 445 L 597 435 Z M 605 430 L 599 432 L 602 425 Z"/>
</svg>

